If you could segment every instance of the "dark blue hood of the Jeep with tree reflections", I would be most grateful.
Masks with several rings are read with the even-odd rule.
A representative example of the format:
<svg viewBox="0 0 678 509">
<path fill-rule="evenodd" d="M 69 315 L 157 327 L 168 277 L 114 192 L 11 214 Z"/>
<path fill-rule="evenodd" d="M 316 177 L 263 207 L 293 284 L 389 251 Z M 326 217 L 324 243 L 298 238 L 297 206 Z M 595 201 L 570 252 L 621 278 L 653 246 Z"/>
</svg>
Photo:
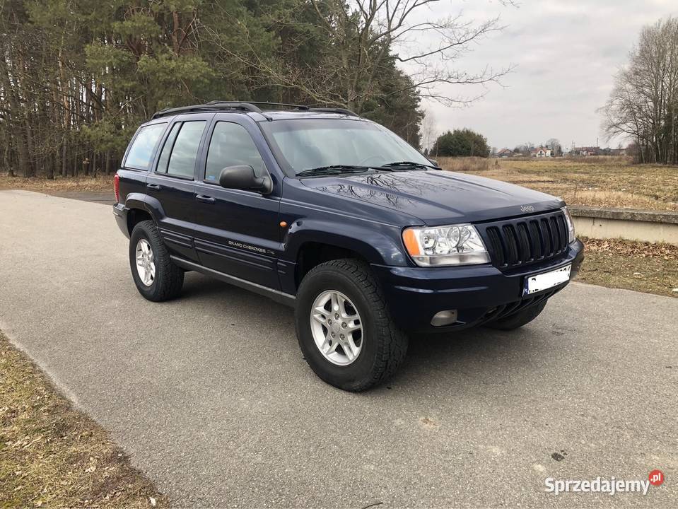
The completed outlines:
<svg viewBox="0 0 678 509">
<path fill-rule="evenodd" d="M 550 194 L 441 170 L 319 177 L 300 182 L 323 194 L 407 213 L 429 226 L 523 216 L 564 205 Z"/>
</svg>

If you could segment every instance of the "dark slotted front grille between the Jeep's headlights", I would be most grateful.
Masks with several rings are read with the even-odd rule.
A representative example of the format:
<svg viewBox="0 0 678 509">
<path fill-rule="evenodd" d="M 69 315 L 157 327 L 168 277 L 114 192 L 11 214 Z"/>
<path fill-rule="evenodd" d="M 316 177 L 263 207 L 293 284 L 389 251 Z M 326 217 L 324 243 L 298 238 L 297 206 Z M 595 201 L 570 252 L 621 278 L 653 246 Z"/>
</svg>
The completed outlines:
<svg viewBox="0 0 678 509">
<path fill-rule="evenodd" d="M 568 230 L 562 211 L 480 225 L 493 263 L 513 269 L 566 252 Z"/>
</svg>

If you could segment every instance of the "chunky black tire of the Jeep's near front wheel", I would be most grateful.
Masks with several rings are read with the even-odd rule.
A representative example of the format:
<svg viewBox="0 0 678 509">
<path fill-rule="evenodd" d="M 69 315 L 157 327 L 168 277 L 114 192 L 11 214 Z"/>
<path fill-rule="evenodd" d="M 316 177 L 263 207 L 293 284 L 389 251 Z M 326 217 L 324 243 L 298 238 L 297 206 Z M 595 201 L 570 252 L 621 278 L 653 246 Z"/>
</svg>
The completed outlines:
<svg viewBox="0 0 678 509">
<path fill-rule="evenodd" d="M 344 309 L 356 312 L 360 318 L 361 331 L 359 334 L 350 333 L 353 346 L 359 341 L 360 351 L 348 365 L 337 365 L 336 359 L 330 361 L 320 351 L 321 346 L 314 336 L 314 327 L 320 331 L 318 341 L 322 341 L 322 337 L 331 341 L 329 334 L 332 329 L 328 327 L 337 327 L 337 335 L 342 331 L 339 322 L 334 322 L 332 326 L 328 326 L 327 322 L 325 325 L 314 325 L 312 322 L 314 315 L 320 315 L 317 321 L 322 320 L 322 313 L 317 313 L 318 306 L 315 304 L 319 302 L 318 299 L 322 301 L 327 293 L 338 293 L 340 299 L 344 296 Z M 328 301 L 327 308 L 333 303 L 333 300 Z M 332 260 L 314 267 L 306 274 L 297 292 L 295 322 L 299 346 L 310 368 L 325 382 L 346 391 L 358 392 L 384 382 L 402 365 L 407 353 L 407 336 L 391 320 L 370 268 L 355 259 Z M 355 327 L 356 323 L 356 320 L 349 322 L 349 328 Z M 345 326 L 346 322 L 341 325 Z M 341 345 L 334 348 L 334 353 L 329 356 L 336 354 L 337 358 L 341 358 Z M 349 357 L 346 352 L 343 353 L 344 358 Z"/>
</svg>

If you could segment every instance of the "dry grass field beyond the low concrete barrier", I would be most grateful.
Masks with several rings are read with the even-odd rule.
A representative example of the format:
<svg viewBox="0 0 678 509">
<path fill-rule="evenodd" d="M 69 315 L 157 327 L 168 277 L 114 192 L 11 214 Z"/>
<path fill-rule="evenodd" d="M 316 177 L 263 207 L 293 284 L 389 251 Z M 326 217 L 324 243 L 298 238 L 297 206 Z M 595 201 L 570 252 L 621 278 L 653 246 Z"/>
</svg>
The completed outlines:
<svg viewBox="0 0 678 509">
<path fill-rule="evenodd" d="M 445 170 L 503 180 L 568 204 L 678 211 L 678 167 L 632 165 L 623 157 L 438 158 Z"/>
</svg>

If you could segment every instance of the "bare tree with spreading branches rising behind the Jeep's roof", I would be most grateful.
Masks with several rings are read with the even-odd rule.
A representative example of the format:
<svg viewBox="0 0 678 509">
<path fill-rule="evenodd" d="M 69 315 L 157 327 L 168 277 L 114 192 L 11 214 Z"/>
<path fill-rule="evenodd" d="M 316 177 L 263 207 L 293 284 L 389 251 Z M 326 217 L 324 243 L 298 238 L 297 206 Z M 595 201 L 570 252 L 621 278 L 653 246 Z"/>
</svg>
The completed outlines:
<svg viewBox="0 0 678 509">
<path fill-rule="evenodd" d="M 309 1 L 316 23 L 331 41 L 323 48 L 324 54 L 317 55 L 315 67 L 297 66 L 295 62 L 272 66 L 266 54 L 252 46 L 246 52 L 234 50 L 230 41 L 222 41 L 221 48 L 230 58 L 257 69 L 268 83 L 297 88 L 317 103 L 337 103 L 357 112 L 368 100 L 388 100 L 405 89 L 417 90 L 421 97 L 444 105 L 467 104 L 484 93 L 451 95 L 440 86 L 484 86 L 498 82 L 512 69 L 484 67 L 469 72 L 455 67 L 473 45 L 501 30 L 498 17 L 477 22 L 460 13 L 430 19 L 436 8 L 450 4 L 443 0 Z M 211 35 L 220 38 L 216 30 L 211 30 Z M 243 41 L 247 45 L 246 37 Z M 379 97 L 374 84 L 380 73 L 395 65 L 405 67 L 409 79 Z"/>
</svg>

